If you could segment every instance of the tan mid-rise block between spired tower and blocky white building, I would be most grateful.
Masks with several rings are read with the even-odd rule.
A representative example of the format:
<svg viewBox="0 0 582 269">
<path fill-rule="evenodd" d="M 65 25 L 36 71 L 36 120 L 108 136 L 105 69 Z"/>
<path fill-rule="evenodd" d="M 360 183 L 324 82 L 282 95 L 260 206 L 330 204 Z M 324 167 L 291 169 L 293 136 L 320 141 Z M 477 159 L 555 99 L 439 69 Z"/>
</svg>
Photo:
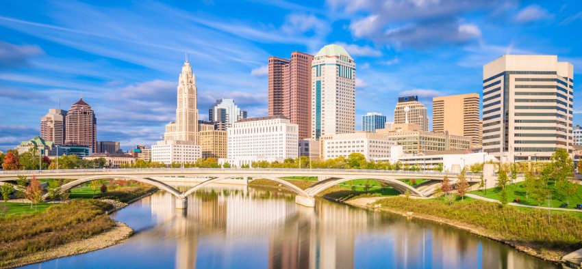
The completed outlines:
<svg viewBox="0 0 582 269">
<path fill-rule="evenodd" d="M 200 122 L 198 130 L 202 158 L 227 158 L 227 131 L 214 130 L 214 122 Z"/>
</svg>

